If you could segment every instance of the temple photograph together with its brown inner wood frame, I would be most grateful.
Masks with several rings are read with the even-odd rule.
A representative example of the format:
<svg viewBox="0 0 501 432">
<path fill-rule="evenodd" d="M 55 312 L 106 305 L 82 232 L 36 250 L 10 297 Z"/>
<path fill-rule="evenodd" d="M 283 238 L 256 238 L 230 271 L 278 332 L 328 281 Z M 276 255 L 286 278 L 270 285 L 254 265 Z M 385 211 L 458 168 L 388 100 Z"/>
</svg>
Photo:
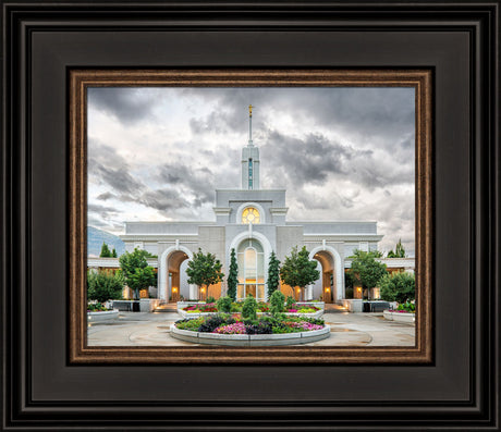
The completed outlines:
<svg viewBox="0 0 501 432">
<path fill-rule="evenodd" d="M 430 70 L 76 70 L 70 79 L 72 361 L 431 361 Z M 266 122 L 254 121 L 254 135 L 256 107 L 243 106 L 239 119 L 231 102 L 243 99 L 269 113 Z M 127 101 L 130 109 L 142 103 L 148 110 L 135 120 Z M 198 118 L 203 113 L 207 118 Z M 240 120 L 234 132 L 231 118 Z M 297 122 L 294 134 L 286 132 L 291 121 Z M 247 141 L 239 148 L 232 143 L 244 126 Z M 261 132 L 266 126 L 270 131 Z M 140 138 L 127 141 L 134 135 Z M 400 158 L 399 181 L 382 176 L 390 156 Z M 140 221 L 140 213 L 149 220 Z M 133 220 L 121 222 L 127 217 Z M 389 232 L 386 242 L 378 224 Z M 85 252 L 85 229 L 94 255 Z M 390 249 L 404 249 L 402 237 L 408 252 L 396 256 Z M 313 271 L 306 287 L 289 282 L 282 270 L 298 245 L 314 263 L 313 270 L 294 270 Z M 212 284 L 194 283 L 188 274 L 204 252 L 221 262 L 222 275 Z M 136 270 L 126 262 L 139 255 L 157 277 L 134 300 Z M 223 319 L 216 301 L 231 293 L 232 262 L 233 314 Z M 282 318 L 270 311 L 273 262 L 285 277 L 278 277 L 274 289 L 282 292 L 282 304 L 291 303 Z M 381 283 L 357 280 L 352 262 Z M 126 282 L 122 272 L 129 272 Z M 110 303 L 109 286 L 118 277 L 110 310 L 94 311 Z M 393 281 L 405 286 L 401 294 L 390 288 Z M 254 321 L 243 317 L 247 297 L 257 300 Z M 371 308 L 368 314 L 364 307 Z M 213 329 L 206 325 L 212 321 Z M 198 330 L 203 324 L 207 331 Z M 310 330 L 297 332 L 298 325 Z"/>
</svg>

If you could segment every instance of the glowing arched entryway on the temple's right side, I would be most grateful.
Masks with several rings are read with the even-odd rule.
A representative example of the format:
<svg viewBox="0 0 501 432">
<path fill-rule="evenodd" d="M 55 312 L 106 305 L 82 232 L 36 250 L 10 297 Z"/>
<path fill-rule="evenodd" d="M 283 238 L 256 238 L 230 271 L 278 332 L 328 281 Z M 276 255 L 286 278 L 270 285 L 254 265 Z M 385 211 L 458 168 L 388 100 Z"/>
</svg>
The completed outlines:
<svg viewBox="0 0 501 432">
<path fill-rule="evenodd" d="M 344 298 L 344 274 L 341 256 L 330 246 L 319 246 L 309 252 L 321 266 L 322 298 L 326 303 L 337 303 Z"/>
</svg>

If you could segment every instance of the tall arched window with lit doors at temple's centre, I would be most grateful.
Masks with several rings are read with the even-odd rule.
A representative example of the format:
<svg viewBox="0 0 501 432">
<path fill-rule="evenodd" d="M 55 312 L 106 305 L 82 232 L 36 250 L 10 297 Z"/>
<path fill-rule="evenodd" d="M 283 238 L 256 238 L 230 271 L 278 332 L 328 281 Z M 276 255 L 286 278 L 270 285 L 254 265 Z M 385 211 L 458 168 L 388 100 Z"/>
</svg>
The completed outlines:
<svg viewBox="0 0 501 432">
<path fill-rule="evenodd" d="M 265 254 L 255 238 L 243 240 L 237 249 L 239 288 L 236 299 L 243 300 L 249 294 L 265 301 Z"/>
</svg>

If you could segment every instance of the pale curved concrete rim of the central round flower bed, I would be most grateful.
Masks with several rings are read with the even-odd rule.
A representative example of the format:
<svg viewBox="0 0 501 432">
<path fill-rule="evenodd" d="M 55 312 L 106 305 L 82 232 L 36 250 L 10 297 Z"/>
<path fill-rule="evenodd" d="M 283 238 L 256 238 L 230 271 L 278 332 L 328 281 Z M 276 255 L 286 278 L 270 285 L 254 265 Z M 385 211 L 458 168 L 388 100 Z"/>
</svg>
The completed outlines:
<svg viewBox="0 0 501 432">
<path fill-rule="evenodd" d="M 297 345 L 309 344 L 325 340 L 330 336 L 330 326 L 326 325 L 320 330 L 311 330 L 301 333 L 284 333 L 284 334 L 218 334 L 218 333 L 200 333 L 190 330 L 180 330 L 175 324 L 171 325 L 172 337 L 181 341 L 192 342 L 194 344 L 207 345 L 225 345 L 225 346 L 281 346 L 281 345 Z"/>
</svg>

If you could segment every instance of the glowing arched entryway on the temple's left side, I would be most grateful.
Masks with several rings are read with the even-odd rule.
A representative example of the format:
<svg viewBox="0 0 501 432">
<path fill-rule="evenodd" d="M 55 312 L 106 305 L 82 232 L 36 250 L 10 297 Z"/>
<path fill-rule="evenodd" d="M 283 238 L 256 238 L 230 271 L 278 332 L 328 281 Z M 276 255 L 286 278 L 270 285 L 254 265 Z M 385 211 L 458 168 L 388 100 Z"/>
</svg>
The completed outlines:
<svg viewBox="0 0 501 432">
<path fill-rule="evenodd" d="M 159 262 L 158 292 L 166 301 L 178 301 L 181 295 L 181 263 L 193 259 L 193 252 L 184 246 L 172 246 L 163 251 Z M 190 295 L 192 295 L 192 287 Z"/>
</svg>

